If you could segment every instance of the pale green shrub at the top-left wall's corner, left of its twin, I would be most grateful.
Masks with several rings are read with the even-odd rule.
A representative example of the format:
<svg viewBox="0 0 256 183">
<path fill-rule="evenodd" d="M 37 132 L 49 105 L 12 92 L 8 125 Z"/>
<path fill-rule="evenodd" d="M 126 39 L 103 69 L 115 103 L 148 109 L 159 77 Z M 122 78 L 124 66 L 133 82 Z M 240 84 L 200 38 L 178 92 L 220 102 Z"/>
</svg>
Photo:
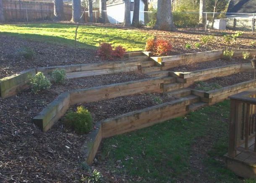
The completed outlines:
<svg viewBox="0 0 256 183">
<path fill-rule="evenodd" d="M 34 93 L 47 90 L 51 87 L 50 80 L 48 80 L 42 72 L 37 72 L 35 76 L 30 76 L 29 79 Z"/>
</svg>

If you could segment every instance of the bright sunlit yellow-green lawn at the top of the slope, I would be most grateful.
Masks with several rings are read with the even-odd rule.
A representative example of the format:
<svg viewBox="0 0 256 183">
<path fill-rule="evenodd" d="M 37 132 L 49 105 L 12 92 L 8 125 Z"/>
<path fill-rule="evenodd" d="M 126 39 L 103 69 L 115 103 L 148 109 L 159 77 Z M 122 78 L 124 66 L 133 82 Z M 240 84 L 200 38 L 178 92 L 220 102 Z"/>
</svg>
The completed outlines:
<svg viewBox="0 0 256 183">
<path fill-rule="evenodd" d="M 0 24 L 0 35 L 32 41 L 74 46 L 76 25 L 63 23 Z M 144 50 L 149 34 L 112 27 L 79 26 L 78 47 L 96 49 L 100 42 L 124 46 L 127 51 Z"/>
</svg>

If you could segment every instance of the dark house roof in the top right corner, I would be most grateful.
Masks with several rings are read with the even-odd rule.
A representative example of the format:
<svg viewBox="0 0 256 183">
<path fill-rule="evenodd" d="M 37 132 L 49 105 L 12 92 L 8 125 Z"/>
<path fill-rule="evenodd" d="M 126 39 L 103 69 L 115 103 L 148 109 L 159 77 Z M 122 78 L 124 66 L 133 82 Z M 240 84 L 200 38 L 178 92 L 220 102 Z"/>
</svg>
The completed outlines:
<svg viewBox="0 0 256 183">
<path fill-rule="evenodd" d="M 230 0 L 227 13 L 256 13 L 256 0 Z"/>
</svg>

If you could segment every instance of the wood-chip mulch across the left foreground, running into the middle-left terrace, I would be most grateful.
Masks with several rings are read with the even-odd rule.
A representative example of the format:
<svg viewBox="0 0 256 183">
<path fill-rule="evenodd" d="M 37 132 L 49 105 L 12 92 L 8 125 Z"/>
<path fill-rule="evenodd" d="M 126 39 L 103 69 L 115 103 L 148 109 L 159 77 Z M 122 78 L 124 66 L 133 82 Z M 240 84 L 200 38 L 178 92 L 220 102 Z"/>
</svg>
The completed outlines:
<svg viewBox="0 0 256 183">
<path fill-rule="evenodd" d="M 0 98 L 0 182 L 78 182 L 86 173 L 80 166 L 86 135 L 62 126 L 43 133 L 31 119 L 64 91 L 144 78 L 136 73 L 91 76 L 54 84 L 37 95 L 29 88 Z"/>
</svg>

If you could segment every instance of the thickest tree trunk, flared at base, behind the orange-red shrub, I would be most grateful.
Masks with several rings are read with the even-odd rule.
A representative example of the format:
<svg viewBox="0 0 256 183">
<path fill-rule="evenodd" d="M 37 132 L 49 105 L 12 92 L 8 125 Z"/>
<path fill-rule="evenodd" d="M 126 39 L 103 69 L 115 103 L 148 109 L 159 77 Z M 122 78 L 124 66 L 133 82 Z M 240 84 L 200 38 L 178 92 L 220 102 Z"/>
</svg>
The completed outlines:
<svg viewBox="0 0 256 183">
<path fill-rule="evenodd" d="M 162 31 L 176 30 L 173 24 L 171 0 L 157 1 L 157 21 L 154 29 Z"/>
</svg>

